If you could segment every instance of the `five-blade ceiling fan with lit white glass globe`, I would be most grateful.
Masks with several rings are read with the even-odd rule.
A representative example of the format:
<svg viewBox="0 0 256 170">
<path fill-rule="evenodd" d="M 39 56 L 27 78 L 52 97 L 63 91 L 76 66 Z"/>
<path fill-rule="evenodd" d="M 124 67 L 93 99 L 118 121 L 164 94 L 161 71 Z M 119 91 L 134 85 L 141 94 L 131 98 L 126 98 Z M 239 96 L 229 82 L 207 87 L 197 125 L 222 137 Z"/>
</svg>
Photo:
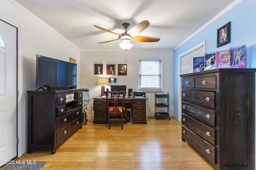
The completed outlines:
<svg viewBox="0 0 256 170">
<path fill-rule="evenodd" d="M 155 37 L 145 37 L 145 36 L 138 36 L 146 27 L 149 25 L 149 21 L 144 20 L 136 25 L 134 25 L 128 32 L 127 28 L 129 27 L 130 23 L 123 23 L 122 26 L 125 28 L 125 32 L 118 34 L 114 33 L 108 29 L 104 29 L 102 27 L 99 27 L 97 25 L 93 25 L 94 27 L 98 29 L 102 29 L 103 31 L 107 31 L 109 33 L 118 35 L 118 39 L 120 39 L 122 42 L 119 44 L 122 49 L 125 51 L 129 50 L 132 48 L 133 44 L 132 41 L 136 42 L 157 42 L 160 40 L 160 38 L 155 38 Z M 110 40 L 110 41 L 104 41 L 101 43 L 108 43 L 112 41 L 116 41 L 118 39 Z M 100 43 L 99 43 L 100 44 Z"/>
</svg>

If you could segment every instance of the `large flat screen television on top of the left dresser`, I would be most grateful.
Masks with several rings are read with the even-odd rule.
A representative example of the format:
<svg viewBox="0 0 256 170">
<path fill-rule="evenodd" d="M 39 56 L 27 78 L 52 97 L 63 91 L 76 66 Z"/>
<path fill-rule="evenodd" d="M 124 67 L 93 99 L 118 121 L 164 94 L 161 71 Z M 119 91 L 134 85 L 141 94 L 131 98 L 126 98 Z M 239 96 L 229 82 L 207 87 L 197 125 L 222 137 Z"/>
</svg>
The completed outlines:
<svg viewBox="0 0 256 170">
<path fill-rule="evenodd" d="M 74 63 L 36 55 L 36 87 L 47 90 L 76 88 Z"/>
</svg>

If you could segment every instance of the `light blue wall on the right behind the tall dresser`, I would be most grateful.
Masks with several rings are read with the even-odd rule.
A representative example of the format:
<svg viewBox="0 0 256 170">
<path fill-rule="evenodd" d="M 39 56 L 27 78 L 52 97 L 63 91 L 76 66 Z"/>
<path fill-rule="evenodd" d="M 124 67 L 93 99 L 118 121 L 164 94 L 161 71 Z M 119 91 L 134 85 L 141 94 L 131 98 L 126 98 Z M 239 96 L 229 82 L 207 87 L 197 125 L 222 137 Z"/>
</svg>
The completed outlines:
<svg viewBox="0 0 256 170">
<path fill-rule="evenodd" d="M 216 47 L 217 29 L 230 21 L 230 43 Z M 178 55 L 205 41 L 205 53 L 246 45 L 246 68 L 256 68 L 256 0 L 242 0 L 174 50 L 174 82 L 179 81 Z M 174 117 L 178 119 L 178 83 L 174 84 Z"/>
</svg>

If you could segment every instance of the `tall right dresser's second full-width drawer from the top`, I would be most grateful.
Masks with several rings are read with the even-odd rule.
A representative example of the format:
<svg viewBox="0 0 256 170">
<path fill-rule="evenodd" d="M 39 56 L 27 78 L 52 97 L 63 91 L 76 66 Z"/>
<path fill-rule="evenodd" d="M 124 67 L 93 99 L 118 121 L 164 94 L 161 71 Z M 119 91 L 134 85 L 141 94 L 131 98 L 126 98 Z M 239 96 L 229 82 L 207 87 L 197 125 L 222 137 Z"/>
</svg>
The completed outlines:
<svg viewBox="0 0 256 170">
<path fill-rule="evenodd" d="M 194 104 L 189 104 L 182 102 L 182 113 L 186 113 L 190 117 L 208 125 L 211 127 L 216 126 L 215 113 L 216 111 L 207 109 L 205 107 L 196 106 Z"/>
</svg>

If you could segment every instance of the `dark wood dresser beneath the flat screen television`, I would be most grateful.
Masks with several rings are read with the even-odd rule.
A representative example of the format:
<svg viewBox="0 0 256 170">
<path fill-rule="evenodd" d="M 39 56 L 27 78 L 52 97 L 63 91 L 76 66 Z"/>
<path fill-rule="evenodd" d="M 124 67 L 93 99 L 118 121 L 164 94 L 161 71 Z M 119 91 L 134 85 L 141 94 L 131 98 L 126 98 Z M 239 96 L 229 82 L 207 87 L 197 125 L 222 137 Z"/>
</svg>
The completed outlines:
<svg viewBox="0 0 256 170">
<path fill-rule="evenodd" d="M 83 89 L 27 91 L 28 153 L 56 149 L 82 128 Z"/>
</svg>

